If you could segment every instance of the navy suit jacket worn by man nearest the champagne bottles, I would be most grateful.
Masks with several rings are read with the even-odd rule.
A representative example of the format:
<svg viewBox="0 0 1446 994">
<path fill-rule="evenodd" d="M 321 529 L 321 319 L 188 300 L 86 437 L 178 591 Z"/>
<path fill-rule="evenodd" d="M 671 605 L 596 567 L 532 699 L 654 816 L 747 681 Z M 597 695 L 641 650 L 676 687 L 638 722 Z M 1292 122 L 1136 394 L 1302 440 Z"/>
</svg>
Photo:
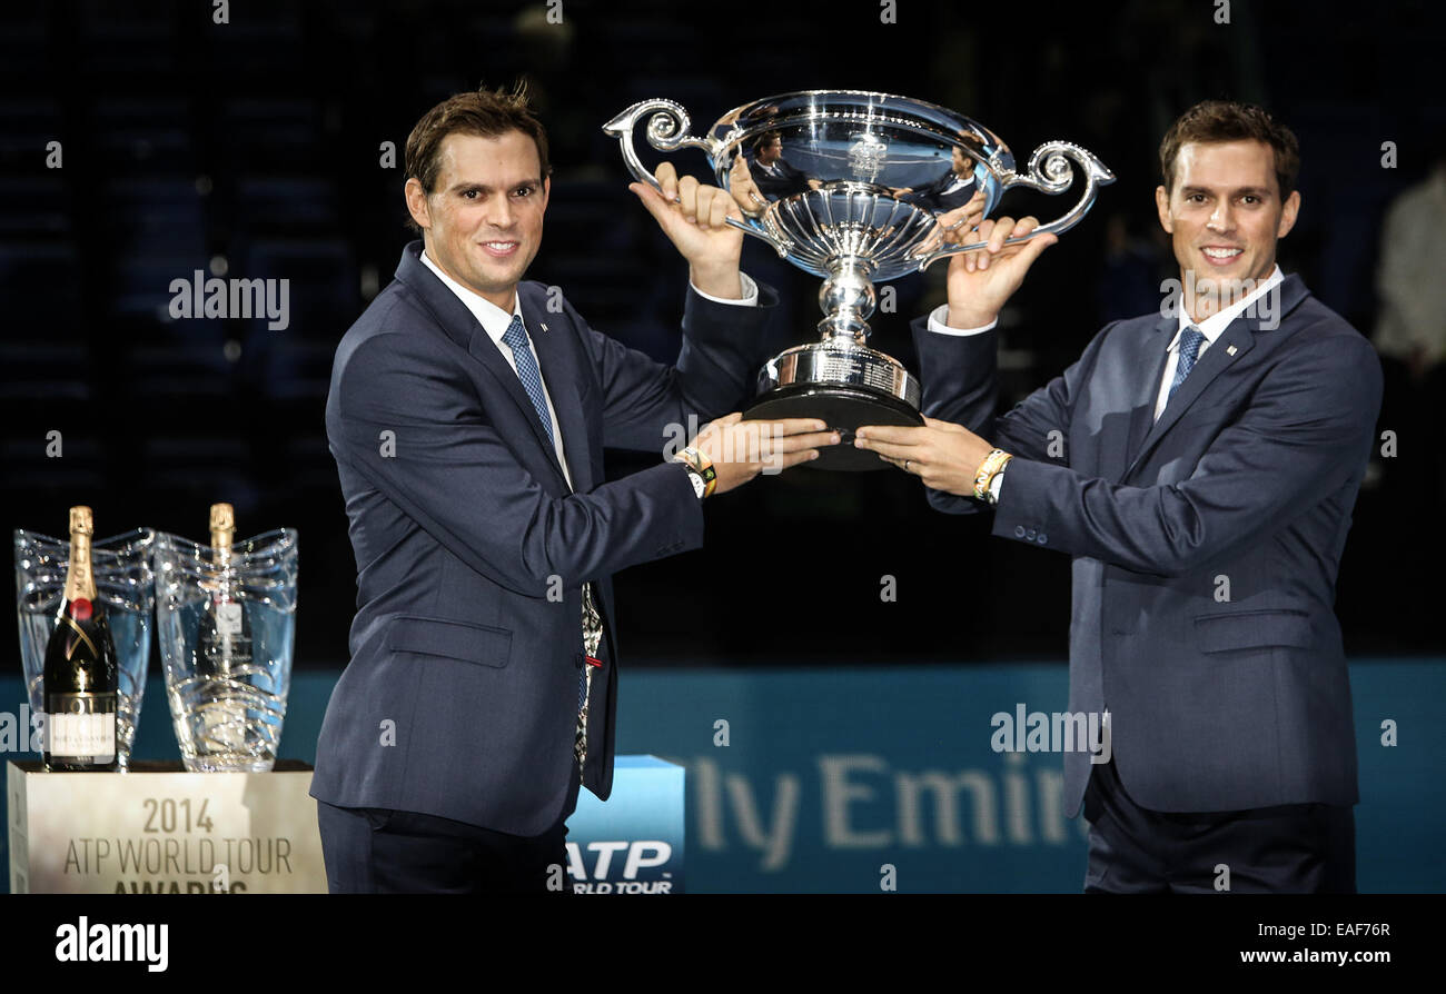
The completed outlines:
<svg viewBox="0 0 1446 994">
<path fill-rule="evenodd" d="M 584 769 L 606 799 L 617 701 L 610 576 L 703 545 L 693 483 L 664 448 L 681 446 L 690 415 L 706 422 L 752 394 L 768 308 L 690 289 L 669 368 L 522 283 L 574 493 L 516 373 L 419 251 L 419 241 L 402 251 L 396 280 L 343 337 L 331 370 L 327 439 L 357 614 L 311 795 L 538 835 L 570 800 L 581 584 L 593 581 L 607 628 Z M 771 289 L 759 293 L 772 303 Z M 603 483 L 604 445 L 659 462 Z"/>
</svg>

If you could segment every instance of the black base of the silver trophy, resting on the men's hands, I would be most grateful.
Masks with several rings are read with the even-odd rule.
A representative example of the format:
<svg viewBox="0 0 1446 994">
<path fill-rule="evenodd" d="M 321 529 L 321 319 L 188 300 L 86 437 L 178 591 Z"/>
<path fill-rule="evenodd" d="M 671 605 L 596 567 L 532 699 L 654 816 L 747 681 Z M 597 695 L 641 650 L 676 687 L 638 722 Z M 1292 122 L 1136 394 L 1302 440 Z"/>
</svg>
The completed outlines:
<svg viewBox="0 0 1446 994">
<path fill-rule="evenodd" d="M 878 452 L 853 446 L 853 432 L 863 425 L 920 428 L 924 418 L 908 403 L 882 393 L 839 386 L 792 386 L 769 390 L 743 412 L 743 420 L 818 418 L 839 432 L 837 445 L 824 445 L 818 458 L 804 462 L 814 470 L 863 472 L 889 470 Z"/>
</svg>

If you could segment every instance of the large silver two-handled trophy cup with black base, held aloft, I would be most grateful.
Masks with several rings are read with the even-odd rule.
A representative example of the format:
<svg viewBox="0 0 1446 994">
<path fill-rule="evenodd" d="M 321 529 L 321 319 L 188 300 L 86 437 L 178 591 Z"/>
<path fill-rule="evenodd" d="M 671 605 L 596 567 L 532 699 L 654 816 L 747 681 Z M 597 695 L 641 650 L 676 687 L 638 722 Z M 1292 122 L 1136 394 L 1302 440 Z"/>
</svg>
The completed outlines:
<svg viewBox="0 0 1446 994">
<path fill-rule="evenodd" d="M 875 283 L 921 272 L 944 256 L 983 241 L 949 244 L 938 217 L 983 194 L 992 214 L 1004 192 L 1025 186 L 1061 194 L 1084 189 L 1063 217 L 1006 244 L 1079 224 L 1113 173 L 1070 142 L 1045 142 L 1024 172 L 993 131 L 962 114 L 907 97 L 857 90 L 811 90 L 737 107 L 704 137 L 688 131 L 688 113 L 671 100 L 645 100 L 610 120 L 623 162 L 659 189 L 638 159 L 633 129 L 651 114 L 648 142 L 662 152 L 696 147 L 717 185 L 733 194 L 745 220 L 729 224 L 771 244 L 782 259 L 824 277 L 818 293 L 821 341 L 790 348 L 762 368 L 749 419 L 820 418 L 843 445 L 820 449 L 826 470 L 876 470 L 872 452 L 855 449 L 860 425 L 923 425 L 920 384 L 904 366 L 869 348 Z M 739 166 L 739 156 L 743 157 Z M 745 172 L 746 168 L 746 172 Z M 743 176 L 748 183 L 735 182 Z"/>
</svg>

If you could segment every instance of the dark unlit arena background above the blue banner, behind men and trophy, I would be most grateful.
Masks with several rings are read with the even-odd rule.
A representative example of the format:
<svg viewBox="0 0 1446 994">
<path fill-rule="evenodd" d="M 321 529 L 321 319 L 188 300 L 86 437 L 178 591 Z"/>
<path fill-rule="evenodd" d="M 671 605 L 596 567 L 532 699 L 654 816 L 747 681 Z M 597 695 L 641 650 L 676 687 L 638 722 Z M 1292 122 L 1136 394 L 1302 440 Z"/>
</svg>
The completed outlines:
<svg viewBox="0 0 1446 994">
<path fill-rule="evenodd" d="M 723 7 L 727 7 L 726 10 Z M 146 524 L 207 539 L 301 532 L 296 665 L 347 659 L 354 561 L 322 410 L 335 342 L 390 280 L 402 246 L 402 147 L 434 103 L 526 75 L 549 129 L 547 233 L 529 276 L 599 329 L 677 354 L 685 267 L 628 192 L 600 126 L 669 97 L 694 133 L 775 92 L 905 94 L 980 120 L 1017 157 L 1048 139 L 1119 181 L 1044 254 L 1002 321 L 1005 407 L 1073 361 L 1106 321 L 1154 311 L 1176 275 L 1154 218 L 1157 146 L 1206 97 L 1267 105 L 1300 137 L 1303 208 L 1280 262 L 1362 334 L 1390 199 L 1446 131 L 1437 4 L 1203 0 L 931 4 L 210 3 L 7 6 L 0 13 L 0 524 L 100 536 Z M 64 146 L 48 169 L 46 143 Z M 383 142 L 395 168 L 380 165 Z M 1395 142 L 1398 168 L 1381 163 Z M 1433 144 L 1436 143 L 1436 144 Z M 678 165 L 704 175 L 704 159 Z M 1053 218 L 1073 202 L 1005 199 Z M 743 267 L 779 288 L 777 350 L 811 340 L 818 280 L 755 240 Z M 291 279 L 291 327 L 171 321 L 192 270 Z M 1446 272 L 1446 260 L 1443 260 Z M 908 319 L 944 266 L 892 283 L 872 344 L 917 368 Z M 775 350 L 775 351 L 777 351 Z M 1439 653 L 1439 462 L 1411 442 L 1388 368 L 1374 459 L 1345 550 L 1338 613 L 1351 654 Z M 64 457 L 46 458 L 46 432 Z M 656 455 L 619 454 L 612 474 Z M 1439 454 L 1436 454 L 1439 459 Z M 989 536 L 989 516 L 931 511 L 895 471 L 795 471 L 707 507 L 703 552 L 626 571 L 629 663 L 972 662 L 1067 652 L 1069 559 Z M 898 600 L 882 602 L 881 578 Z M 16 646 L 9 613 L 0 639 Z"/>
</svg>

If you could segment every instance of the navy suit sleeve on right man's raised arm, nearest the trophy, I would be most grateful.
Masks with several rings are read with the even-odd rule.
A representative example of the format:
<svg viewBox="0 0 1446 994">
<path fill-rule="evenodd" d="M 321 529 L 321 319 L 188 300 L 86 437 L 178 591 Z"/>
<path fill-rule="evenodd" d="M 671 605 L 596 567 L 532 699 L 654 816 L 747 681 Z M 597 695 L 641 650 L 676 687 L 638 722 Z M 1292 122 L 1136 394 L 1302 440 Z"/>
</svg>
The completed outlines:
<svg viewBox="0 0 1446 994">
<path fill-rule="evenodd" d="M 1061 376 L 1021 400 L 1014 410 L 996 418 L 998 332 L 944 335 L 930 331 L 927 318 L 918 318 L 914 321 L 914 344 L 918 348 L 920 376 L 924 381 L 923 410 L 930 418 L 963 425 L 1015 457 L 1005 472 L 1005 484 L 1015 465 L 1025 459 L 1069 462 L 1069 451 L 1064 446 L 1070 436 L 1074 403 L 1095 366 L 1100 342 L 1111 328 L 1112 324 L 1095 335 L 1080 358 Z M 1051 444 L 1061 446 L 1053 457 Z M 941 490 L 927 490 L 927 496 L 931 506 L 950 514 L 969 514 L 988 507 L 972 497 L 959 497 Z"/>
</svg>

